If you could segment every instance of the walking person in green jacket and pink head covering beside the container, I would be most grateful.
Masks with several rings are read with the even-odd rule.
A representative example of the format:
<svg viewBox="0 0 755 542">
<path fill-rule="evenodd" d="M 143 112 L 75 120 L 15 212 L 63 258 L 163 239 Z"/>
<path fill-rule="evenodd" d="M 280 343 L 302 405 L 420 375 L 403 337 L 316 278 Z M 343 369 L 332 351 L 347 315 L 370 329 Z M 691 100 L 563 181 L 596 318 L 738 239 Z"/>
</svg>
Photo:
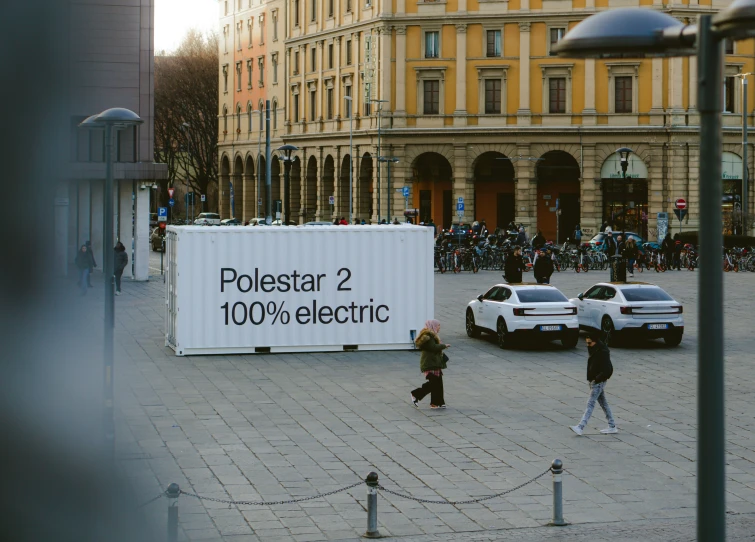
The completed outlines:
<svg viewBox="0 0 755 542">
<path fill-rule="evenodd" d="M 430 394 L 430 408 L 446 408 L 443 397 L 443 369 L 446 368 L 448 356 L 443 352 L 450 344 L 440 342 L 440 322 L 428 320 L 425 327 L 414 340 L 416 347 L 422 352 L 419 358 L 419 370 L 425 375 L 427 382 L 412 390 L 412 404 L 419 408 L 419 402 Z"/>
</svg>

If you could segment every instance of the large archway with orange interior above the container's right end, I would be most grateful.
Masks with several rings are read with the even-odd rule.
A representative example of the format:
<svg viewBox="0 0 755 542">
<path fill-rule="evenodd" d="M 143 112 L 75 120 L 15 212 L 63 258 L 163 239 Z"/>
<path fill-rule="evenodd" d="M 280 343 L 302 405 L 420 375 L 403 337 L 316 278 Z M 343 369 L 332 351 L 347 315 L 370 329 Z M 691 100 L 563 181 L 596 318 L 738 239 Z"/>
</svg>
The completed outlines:
<svg viewBox="0 0 755 542">
<path fill-rule="evenodd" d="M 442 154 L 426 152 L 412 162 L 413 208 L 417 222 L 442 224 L 448 229 L 454 220 L 453 168 Z"/>
</svg>

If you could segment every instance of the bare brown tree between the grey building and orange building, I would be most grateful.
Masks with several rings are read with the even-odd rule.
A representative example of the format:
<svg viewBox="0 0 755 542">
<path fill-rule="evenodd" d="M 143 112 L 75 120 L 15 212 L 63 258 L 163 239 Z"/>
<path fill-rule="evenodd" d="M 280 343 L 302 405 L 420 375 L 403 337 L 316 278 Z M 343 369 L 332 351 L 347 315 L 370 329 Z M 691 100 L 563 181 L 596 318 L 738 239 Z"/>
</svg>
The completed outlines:
<svg viewBox="0 0 755 542">
<path fill-rule="evenodd" d="M 190 30 L 174 53 L 155 57 L 155 160 L 168 165 L 164 188 L 183 181 L 197 199 L 206 195 L 207 209 L 213 210 L 217 114 L 218 36 Z"/>
</svg>

